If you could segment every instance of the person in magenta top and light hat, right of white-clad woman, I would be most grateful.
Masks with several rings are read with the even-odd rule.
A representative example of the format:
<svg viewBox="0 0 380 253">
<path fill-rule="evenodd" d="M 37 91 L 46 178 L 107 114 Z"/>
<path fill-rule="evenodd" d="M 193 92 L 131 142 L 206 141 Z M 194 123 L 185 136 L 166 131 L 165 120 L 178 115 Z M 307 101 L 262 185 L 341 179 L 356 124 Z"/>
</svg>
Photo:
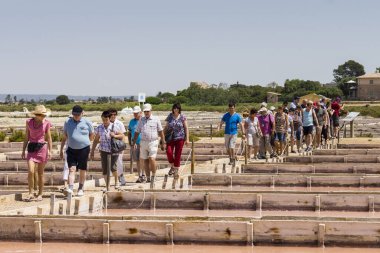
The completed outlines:
<svg viewBox="0 0 380 253">
<path fill-rule="evenodd" d="M 268 113 L 268 109 L 263 107 L 258 113 L 258 121 L 260 125 L 260 130 L 262 133 L 262 137 L 260 138 L 260 157 L 261 159 L 265 159 L 267 152 L 270 154 L 270 157 L 275 157 L 276 155 L 273 153 L 273 149 L 271 146 L 272 136 L 274 137 L 274 117 L 272 114 Z"/>
</svg>

